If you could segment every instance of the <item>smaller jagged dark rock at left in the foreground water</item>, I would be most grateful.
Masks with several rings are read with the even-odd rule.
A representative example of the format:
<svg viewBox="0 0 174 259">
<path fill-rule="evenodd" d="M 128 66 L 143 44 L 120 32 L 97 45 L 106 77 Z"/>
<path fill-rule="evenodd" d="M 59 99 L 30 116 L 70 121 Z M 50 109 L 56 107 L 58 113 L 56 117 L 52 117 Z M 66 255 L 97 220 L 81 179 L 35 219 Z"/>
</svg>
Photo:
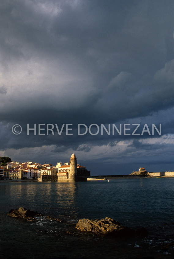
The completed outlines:
<svg viewBox="0 0 174 259">
<path fill-rule="evenodd" d="M 34 217 L 43 216 L 41 213 L 37 211 L 30 211 L 23 207 L 20 207 L 19 209 L 16 209 L 16 210 L 10 210 L 7 215 L 14 218 L 25 218 L 27 220 L 35 220 Z"/>
</svg>

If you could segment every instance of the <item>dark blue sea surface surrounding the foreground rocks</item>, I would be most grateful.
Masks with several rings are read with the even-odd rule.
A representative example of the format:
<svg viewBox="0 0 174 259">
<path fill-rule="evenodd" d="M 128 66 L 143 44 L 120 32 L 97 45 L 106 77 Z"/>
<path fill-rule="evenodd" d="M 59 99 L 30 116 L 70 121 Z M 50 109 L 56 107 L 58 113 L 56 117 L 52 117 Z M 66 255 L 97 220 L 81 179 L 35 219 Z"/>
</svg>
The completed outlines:
<svg viewBox="0 0 174 259">
<path fill-rule="evenodd" d="M 173 258 L 174 178 L 89 182 L 0 182 L 0 254 L 4 258 Z M 10 218 L 25 207 L 43 217 Z M 54 222 L 47 215 L 63 222 Z M 147 238 L 117 240 L 79 233 L 80 218 L 111 217 Z"/>
</svg>

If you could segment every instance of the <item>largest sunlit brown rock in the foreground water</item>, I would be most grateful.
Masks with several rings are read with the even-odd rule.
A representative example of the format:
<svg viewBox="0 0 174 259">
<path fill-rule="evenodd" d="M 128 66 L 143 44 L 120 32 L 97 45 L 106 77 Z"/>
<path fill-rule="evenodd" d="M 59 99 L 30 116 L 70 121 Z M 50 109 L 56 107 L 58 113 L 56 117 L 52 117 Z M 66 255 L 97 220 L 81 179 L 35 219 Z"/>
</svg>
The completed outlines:
<svg viewBox="0 0 174 259">
<path fill-rule="evenodd" d="M 112 218 L 105 219 L 80 219 L 76 224 L 76 229 L 82 232 L 92 232 L 95 234 L 108 235 L 112 234 L 118 237 L 128 237 L 135 235 L 135 230 L 132 230 L 126 226 L 121 226 L 121 224 L 113 220 Z"/>
</svg>

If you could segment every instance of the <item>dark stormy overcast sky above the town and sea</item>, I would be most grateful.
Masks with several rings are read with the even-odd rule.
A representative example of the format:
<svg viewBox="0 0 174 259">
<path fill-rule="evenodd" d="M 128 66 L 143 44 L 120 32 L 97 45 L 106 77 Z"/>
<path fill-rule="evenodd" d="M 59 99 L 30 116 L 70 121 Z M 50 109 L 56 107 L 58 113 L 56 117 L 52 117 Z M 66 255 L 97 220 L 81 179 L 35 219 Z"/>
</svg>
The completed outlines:
<svg viewBox="0 0 174 259">
<path fill-rule="evenodd" d="M 74 152 L 91 175 L 174 169 L 173 0 L 2 0 L 0 24 L 0 156 L 56 165 Z"/>
</svg>

